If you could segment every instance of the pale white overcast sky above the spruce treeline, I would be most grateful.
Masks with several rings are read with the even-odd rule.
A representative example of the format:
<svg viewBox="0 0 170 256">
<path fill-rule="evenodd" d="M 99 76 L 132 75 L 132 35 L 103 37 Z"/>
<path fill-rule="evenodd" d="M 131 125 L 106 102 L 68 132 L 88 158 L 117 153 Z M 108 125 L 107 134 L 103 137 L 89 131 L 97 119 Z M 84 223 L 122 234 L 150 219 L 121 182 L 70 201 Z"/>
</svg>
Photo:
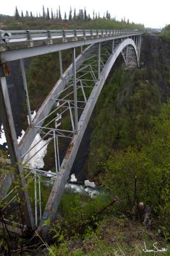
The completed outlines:
<svg viewBox="0 0 170 256">
<path fill-rule="evenodd" d="M 15 6 L 17 6 L 18 11 L 23 10 L 24 15 L 25 11 L 32 11 L 36 15 L 36 12 L 42 13 L 42 6 L 45 6 L 45 9 L 48 7 L 50 10 L 53 8 L 53 11 L 56 12 L 56 9 L 60 5 L 61 13 L 64 15 L 64 12 L 69 12 L 70 5 L 72 8 L 76 8 L 78 11 L 80 8 L 86 7 L 87 13 L 100 12 L 100 15 L 103 16 L 103 13 L 106 10 L 111 13 L 111 17 L 117 17 L 117 19 L 126 18 L 130 22 L 142 23 L 146 27 L 152 28 L 162 28 L 166 24 L 170 24 L 170 0 L 72 0 L 72 1 L 39 1 L 39 0 L 8 0 L 1 1 L 0 13 L 6 15 L 13 15 L 15 12 Z"/>
</svg>

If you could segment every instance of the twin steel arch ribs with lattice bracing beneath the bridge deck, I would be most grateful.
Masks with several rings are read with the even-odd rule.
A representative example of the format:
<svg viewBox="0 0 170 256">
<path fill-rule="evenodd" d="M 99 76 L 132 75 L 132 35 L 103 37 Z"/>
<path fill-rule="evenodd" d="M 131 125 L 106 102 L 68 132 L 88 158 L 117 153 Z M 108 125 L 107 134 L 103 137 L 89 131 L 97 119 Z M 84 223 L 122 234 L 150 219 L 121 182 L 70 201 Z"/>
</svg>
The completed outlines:
<svg viewBox="0 0 170 256">
<path fill-rule="evenodd" d="M 125 67 L 139 67 L 141 38 L 139 41 L 136 40 L 138 44 L 135 44 L 134 41 L 135 38 L 134 40 L 131 38 L 117 38 L 115 40 L 91 44 L 85 51 L 81 52 L 78 58 L 75 58 L 75 48 L 73 48 L 73 63 L 63 74 L 60 55 L 61 77 L 48 97 L 46 97 L 41 108 L 39 108 L 34 120 L 31 120 L 24 63 L 21 61 L 22 75 L 27 94 L 27 109 L 31 125 L 29 125 L 19 145 L 15 145 L 18 157 L 15 157 L 11 162 L 22 162 L 20 168 L 24 170 L 25 173 L 25 177 L 22 178 L 24 179 L 22 182 L 23 186 L 25 186 L 28 177 L 34 181 L 34 214 L 31 213 L 29 198 L 27 198 L 26 201 L 27 207 L 25 211 L 31 214 L 31 220 L 34 215 L 35 225 L 31 221 L 25 221 L 27 227 L 38 227 L 38 231 L 41 232 L 41 234 L 46 234 L 48 227 L 43 226 L 44 221 L 48 218 L 50 218 L 51 221 L 55 220 L 57 207 L 67 179 L 69 178 L 69 173 L 78 152 L 81 139 L 83 138 L 90 115 L 92 114 L 111 68 L 119 54 L 122 54 L 124 58 Z M 4 77 L 1 77 L 1 86 L 5 98 L 6 79 Z M 10 129 L 11 128 L 12 127 L 10 127 Z M 38 133 L 41 136 L 39 141 L 32 144 Z M 15 136 L 15 134 L 13 136 Z M 17 140 L 16 136 L 15 140 Z M 41 145 L 42 140 L 46 141 L 43 146 Z M 8 141 L 10 141 L 10 139 Z M 62 149 L 63 143 L 67 145 L 67 150 L 64 154 Z M 53 159 L 55 159 L 55 168 L 50 175 L 48 170 L 38 170 L 29 166 L 29 161 L 32 157 L 39 154 L 46 145 L 53 148 Z M 13 152 L 11 150 L 10 156 L 12 154 Z M 1 198 L 4 209 L 7 209 L 6 207 L 9 205 L 8 195 L 11 195 L 11 191 L 8 191 L 12 180 L 10 177 L 9 175 L 6 175 L 6 178 L 4 176 L 1 177 L 1 180 L 3 180 L 5 184 L 5 192 L 3 193 L 3 198 Z M 53 180 L 53 187 L 48 201 L 46 202 L 45 209 L 41 207 L 41 196 L 43 195 L 41 195 L 40 177 Z M 13 201 L 15 199 L 16 197 L 13 198 Z M 13 201 L 10 200 L 10 204 Z M 43 214 L 41 212 L 43 212 Z"/>
</svg>

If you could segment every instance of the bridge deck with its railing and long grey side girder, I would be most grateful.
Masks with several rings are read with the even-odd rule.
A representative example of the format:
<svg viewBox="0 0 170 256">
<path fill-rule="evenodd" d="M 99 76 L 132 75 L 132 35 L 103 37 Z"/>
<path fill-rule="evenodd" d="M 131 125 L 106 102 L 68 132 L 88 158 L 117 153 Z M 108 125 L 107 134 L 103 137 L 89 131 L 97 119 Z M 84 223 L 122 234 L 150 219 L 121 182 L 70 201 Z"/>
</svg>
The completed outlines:
<svg viewBox="0 0 170 256">
<path fill-rule="evenodd" d="M 143 31 L 127 30 L 48 30 L 48 31 L 0 31 L 1 61 L 12 61 L 37 56 L 71 47 L 89 45 L 104 40 L 125 38 L 143 34 Z M 52 47 L 55 46 L 55 47 Z M 39 48 L 41 47 L 41 49 Z M 36 51 L 32 51 L 36 48 Z M 39 49 L 38 49 L 39 48 Z M 24 49 L 24 54 L 22 50 Z M 25 52 L 25 50 L 28 50 Z"/>
</svg>

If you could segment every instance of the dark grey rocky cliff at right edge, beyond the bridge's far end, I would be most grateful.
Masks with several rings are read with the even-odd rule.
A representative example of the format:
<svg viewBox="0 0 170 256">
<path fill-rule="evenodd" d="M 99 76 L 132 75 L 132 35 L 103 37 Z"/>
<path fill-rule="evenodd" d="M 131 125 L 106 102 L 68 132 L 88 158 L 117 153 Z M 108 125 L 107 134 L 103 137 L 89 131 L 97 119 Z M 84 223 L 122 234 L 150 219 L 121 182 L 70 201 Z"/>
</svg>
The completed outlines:
<svg viewBox="0 0 170 256">
<path fill-rule="evenodd" d="M 170 42 L 158 35 L 143 36 L 141 67 L 146 68 L 146 76 L 157 83 L 162 102 L 170 97 Z"/>
</svg>

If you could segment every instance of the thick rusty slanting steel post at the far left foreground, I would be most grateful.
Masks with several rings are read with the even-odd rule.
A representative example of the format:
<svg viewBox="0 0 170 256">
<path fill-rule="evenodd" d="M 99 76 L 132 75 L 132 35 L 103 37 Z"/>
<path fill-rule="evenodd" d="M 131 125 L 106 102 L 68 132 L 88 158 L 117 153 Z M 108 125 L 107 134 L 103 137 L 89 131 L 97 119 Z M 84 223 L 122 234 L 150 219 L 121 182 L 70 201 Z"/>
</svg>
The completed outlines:
<svg viewBox="0 0 170 256">
<path fill-rule="evenodd" d="M 19 196 L 24 222 L 27 227 L 34 229 L 34 218 L 32 215 L 31 204 L 27 195 L 27 191 L 25 191 L 25 178 L 22 166 L 20 165 L 20 150 L 18 148 L 17 135 L 15 132 L 15 125 L 11 112 L 11 104 L 6 84 L 6 77 L 0 77 L 0 107 L 11 164 L 15 167 L 16 170 L 15 179 L 20 179 Z"/>
</svg>

